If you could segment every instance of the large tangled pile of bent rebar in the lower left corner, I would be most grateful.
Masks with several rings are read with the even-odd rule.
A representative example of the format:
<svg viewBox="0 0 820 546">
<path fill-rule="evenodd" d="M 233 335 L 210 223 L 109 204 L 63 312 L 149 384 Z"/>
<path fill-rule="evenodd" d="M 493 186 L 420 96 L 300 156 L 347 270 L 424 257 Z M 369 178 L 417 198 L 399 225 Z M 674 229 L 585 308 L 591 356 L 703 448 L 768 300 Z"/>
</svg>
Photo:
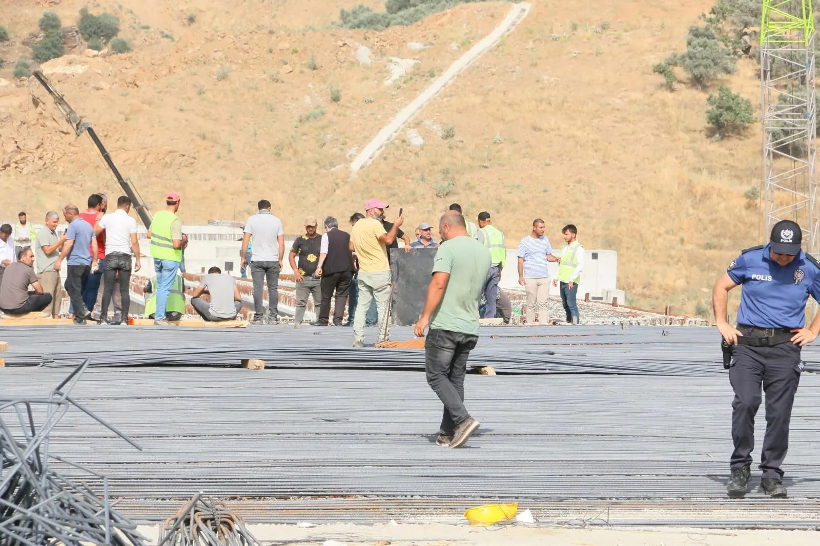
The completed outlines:
<svg viewBox="0 0 820 546">
<path fill-rule="evenodd" d="M 71 398 L 71 389 L 88 363 L 73 371 L 48 398 L 0 398 L 0 546 L 144 544 L 134 523 L 112 510 L 107 482 L 100 498 L 50 467 L 49 457 L 63 459 L 49 453 L 49 435 L 71 406 L 131 442 Z M 44 406 L 46 412 L 40 426 L 34 425 L 35 406 Z M 12 434 L 2 412 L 17 416 L 22 435 Z"/>
</svg>

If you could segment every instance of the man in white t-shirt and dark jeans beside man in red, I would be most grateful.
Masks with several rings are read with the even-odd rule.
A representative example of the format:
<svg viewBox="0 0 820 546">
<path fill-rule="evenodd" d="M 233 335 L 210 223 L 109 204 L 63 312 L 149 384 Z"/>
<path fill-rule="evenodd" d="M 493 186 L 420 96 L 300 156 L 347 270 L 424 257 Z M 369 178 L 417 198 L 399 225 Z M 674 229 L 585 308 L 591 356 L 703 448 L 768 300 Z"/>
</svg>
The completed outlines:
<svg viewBox="0 0 820 546">
<path fill-rule="evenodd" d="M 116 200 L 116 211 L 103 216 L 94 226 L 94 234 L 106 234 L 105 266 L 103 271 L 103 303 L 100 307 L 99 323 L 108 321 L 108 304 L 114 293 L 114 283 L 119 283 L 122 299 L 122 320 L 112 324 L 128 324 L 128 308 L 131 304 L 131 259 L 136 257 L 134 271 L 139 271 L 139 243 L 137 243 L 137 221 L 128 213 L 131 210 L 130 198 L 123 195 Z"/>
</svg>

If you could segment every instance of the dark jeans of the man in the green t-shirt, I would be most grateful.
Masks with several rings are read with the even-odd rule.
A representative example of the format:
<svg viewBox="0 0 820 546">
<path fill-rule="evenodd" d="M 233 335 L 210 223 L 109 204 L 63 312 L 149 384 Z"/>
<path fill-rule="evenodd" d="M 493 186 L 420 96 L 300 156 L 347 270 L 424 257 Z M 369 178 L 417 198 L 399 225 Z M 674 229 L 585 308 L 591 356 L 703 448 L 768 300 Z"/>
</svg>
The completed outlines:
<svg viewBox="0 0 820 546">
<path fill-rule="evenodd" d="M 467 357 L 476 348 L 477 335 L 459 334 L 449 330 L 433 330 L 424 342 L 424 363 L 427 384 L 444 403 L 440 433 L 453 435 L 456 425 L 470 413 L 464 407 L 464 375 Z"/>
</svg>

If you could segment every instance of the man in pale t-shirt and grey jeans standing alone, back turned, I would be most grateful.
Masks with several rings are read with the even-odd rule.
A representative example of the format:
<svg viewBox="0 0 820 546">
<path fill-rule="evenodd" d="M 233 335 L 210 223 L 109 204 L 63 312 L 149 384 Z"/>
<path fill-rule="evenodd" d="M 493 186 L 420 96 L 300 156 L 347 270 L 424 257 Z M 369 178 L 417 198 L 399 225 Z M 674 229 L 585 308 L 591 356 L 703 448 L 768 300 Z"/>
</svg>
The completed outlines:
<svg viewBox="0 0 820 546">
<path fill-rule="evenodd" d="M 271 202 L 262 199 L 257 203 L 259 212 L 245 222 L 242 249 L 239 258 L 242 267 L 248 266 L 245 253 L 253 237 L 251 253 L 251 277 L 253 278 L 253 321 L 262 324 L 265 311 L 265 280 L 267 280 L 267 319 L 276 323 L 279 319 L 279 273 L 285 259 L 285 230 L 282 221 L 271 213 Z"/>
</svg>

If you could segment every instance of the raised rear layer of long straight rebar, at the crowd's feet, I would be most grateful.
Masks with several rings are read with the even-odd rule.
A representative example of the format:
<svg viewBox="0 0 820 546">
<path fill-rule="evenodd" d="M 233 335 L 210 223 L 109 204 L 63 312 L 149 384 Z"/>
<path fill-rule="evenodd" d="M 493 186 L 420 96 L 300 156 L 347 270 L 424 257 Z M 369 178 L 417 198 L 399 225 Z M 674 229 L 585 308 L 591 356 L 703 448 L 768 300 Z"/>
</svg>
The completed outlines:
<svg viewBox="0 0 820 546">
<path fill-rule="evenodd" d="M 375 342 L 376 330 L 366 336 Z M 395 327 L 390 337 L 412 339 L 412 329 Z M 93 366 L 239 366 L 259 359 L 269 367 L 424 369 L 423 350 L 352 348 L 353 332 L 344 327 L 67 325 L 8 328 L 3 338 L 7 366 L 75 366 L 92 356 Z M 719 339 L 700 327 L 488 326 L 470 365 L 499 373 L 723 375 Z M 804 359 L 820 360 L 820 350 L 804 348 Z"/>
</svg>

